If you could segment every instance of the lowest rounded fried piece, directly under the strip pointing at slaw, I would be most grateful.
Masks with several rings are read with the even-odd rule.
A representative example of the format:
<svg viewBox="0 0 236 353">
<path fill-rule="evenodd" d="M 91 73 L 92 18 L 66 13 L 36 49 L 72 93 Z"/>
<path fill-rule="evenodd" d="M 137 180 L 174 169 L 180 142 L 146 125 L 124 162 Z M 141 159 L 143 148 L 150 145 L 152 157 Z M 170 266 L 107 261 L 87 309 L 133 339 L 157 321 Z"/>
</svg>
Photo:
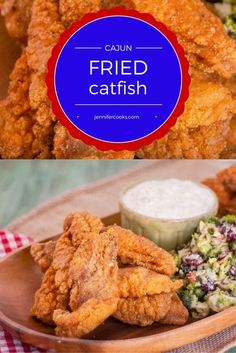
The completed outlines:
<svg viewBox="0 0 236 353">
<path fill-rule="evenodd" d="M 121 298 L 113 316 L 130 325 L 151 325 L 167 315 L 172 296 L 173 293 L 162 293 L 140 298 Z"/>
</svg>

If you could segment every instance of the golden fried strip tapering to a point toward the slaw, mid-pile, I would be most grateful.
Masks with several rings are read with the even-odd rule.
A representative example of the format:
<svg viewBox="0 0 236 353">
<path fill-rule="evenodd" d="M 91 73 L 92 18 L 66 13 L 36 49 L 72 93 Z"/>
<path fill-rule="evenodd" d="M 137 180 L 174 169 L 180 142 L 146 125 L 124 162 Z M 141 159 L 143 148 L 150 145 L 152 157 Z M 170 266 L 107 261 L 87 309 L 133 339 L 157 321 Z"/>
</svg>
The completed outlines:
<svg viewBox="0 0 236 353">
<path fill-rule="evenodd" d="M 168 276 L 143 267 L 120 268 L 118 280 L 121 298 L 170 293 L 178 290 L 183 285 L 181 280 L 173 282 Z"/>
</svg>

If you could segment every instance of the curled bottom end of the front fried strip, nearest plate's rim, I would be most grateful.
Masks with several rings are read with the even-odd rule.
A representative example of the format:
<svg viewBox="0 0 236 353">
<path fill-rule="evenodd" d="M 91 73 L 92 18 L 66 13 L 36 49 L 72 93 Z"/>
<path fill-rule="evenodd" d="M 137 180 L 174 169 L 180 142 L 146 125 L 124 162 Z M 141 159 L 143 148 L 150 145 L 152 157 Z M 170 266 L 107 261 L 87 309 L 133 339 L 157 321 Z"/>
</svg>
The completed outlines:
<svg viewBox="0 0 236 353">
<path fill-rule="evenodd" d="M 89 299 L 77 311 L 55 310 L 53 319 L 56 334 L 64 337 L 82 337 L 101 325 L 117 308 L 117 299 Z"/>
</svg>

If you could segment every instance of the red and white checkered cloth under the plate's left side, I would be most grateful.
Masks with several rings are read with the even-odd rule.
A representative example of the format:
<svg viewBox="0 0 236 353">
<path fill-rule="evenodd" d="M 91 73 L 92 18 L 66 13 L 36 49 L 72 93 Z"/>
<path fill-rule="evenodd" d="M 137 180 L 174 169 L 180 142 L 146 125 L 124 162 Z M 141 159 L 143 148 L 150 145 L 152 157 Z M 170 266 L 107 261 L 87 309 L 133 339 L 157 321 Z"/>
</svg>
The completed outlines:
<svg viewBox="0 0 236 353">
<path fill-rule="evenodd" d="M 0 258 L 21 246 L 29 245 L 33 240 L 20 234 L 0 231 Z M 44 351 L 30 347 L 13 338 L 0 326 L 0 353 L 42 353 Z"/>
</svg>

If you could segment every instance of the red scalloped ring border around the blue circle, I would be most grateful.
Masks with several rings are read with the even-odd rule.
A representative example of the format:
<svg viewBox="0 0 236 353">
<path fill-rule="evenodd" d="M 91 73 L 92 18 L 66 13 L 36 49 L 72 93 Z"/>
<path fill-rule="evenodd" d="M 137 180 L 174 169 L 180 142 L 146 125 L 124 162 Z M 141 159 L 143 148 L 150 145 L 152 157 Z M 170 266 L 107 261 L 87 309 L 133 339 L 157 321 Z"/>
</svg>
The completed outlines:
<svg viewBox="0 0 236 353">
<path fill-rule="evenodd" d="M 181 66 L 181 71 L 182 71 L 182 91 L 180 93 L 179 101 L 174 111 L 172 112 L 171 116 L 169 116 L 167 121 L 159 129 L 149 134 L 148 136 L 145 136 L 133 142 L 125 142 L 125 143 L 115 143 L 115 142 L 112 143 L 112 142 L 97 140 L 96 138 L 88 136 L 83 131 L 79 130 L 79 128 L 75 127 L 75 125 L 71 123 L 71 121 L 68 119 L 68 117 L 64 114 L 63 110 L 61 109 L 61 106 L 57 99 L 55 82 L 54 82 L 58 57 L 61 53 L 61 50 L 63 49 L 66 42 L 70 39 L 70 37 L 81 27 L 90 23 L 91 21 L 94 21 L 96 19 L 103 18 L 103 17 L 114 16 L 114 15 L 120 15 L 120 16 L 123 15 L 123 16 L 129 16 L 129 17 L 141 19 L 151 24 L 159 31 L 161 31 L 174 47 L 177 53 L 180 66 Z M 185 57 L 183 47 L 177 41 L 176 35 L 172 31 L 170 31 L 163 23 L 156 21 L 152 15 L 148 13 L 140 13 L 136 10 L 127 10 L 126 8 L 123 8 L 123 7 L 115 7 L 110 10 L 100 10 L 96 13 L 89 13 L 89 14 L 86 14 L 80 21 L 73 23 L 69 27 L 69 29 L 67 29 L 64 33 L 62 33 L 58 44 L 56 44 L 56 46 L 52 49 L 52 55 L 48 61 L 47 66 L 48 66 L 48 73 L 46 77 L 46 84 L 48 88 L 48 98 L 51 101 L 53 113 L 59 119 L 60 123 L 65 128 L 68 129 L 68 131 L 74 138 L 83 141 L 87 145 L 95 146 L 100 151 L 108 151 L 108 150 L 113 150 L 116 152 L 123 151 L 123 150 L 136 151 L 139 148 L 145 147 L 151 144 L 153 141 L 164 137 L 168 133 L 169 129 L 176 124 L 178 117 L 183 114 L 185 102 L 189 97 L 189 86 L 191 83 L 190 75 L 188 72 L 189 63 Z"/>
</svg>

